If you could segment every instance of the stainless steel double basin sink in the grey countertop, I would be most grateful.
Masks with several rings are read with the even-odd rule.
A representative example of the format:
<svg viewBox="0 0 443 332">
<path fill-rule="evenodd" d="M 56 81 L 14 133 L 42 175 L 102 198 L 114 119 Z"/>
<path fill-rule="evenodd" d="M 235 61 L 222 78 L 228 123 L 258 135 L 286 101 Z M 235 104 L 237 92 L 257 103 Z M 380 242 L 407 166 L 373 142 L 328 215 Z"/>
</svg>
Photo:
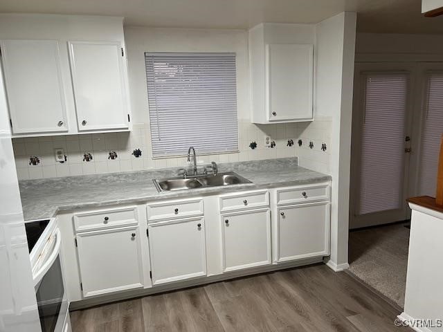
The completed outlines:
<svg viewBox="0 0 443 332">
<path fill-rule="evenodd" d="M 154 180 L 154 185 L 159 192 L 219 187 L 222 185 L 241 185 L 245 183 L 251 183 L 251 181 L 234 172 L 224 172 L 216 175 L 198 175 L 190 178 L 183 178 L 183 176 L 180 176 L 177 178 L 161 178 Z"/>
</svg>

